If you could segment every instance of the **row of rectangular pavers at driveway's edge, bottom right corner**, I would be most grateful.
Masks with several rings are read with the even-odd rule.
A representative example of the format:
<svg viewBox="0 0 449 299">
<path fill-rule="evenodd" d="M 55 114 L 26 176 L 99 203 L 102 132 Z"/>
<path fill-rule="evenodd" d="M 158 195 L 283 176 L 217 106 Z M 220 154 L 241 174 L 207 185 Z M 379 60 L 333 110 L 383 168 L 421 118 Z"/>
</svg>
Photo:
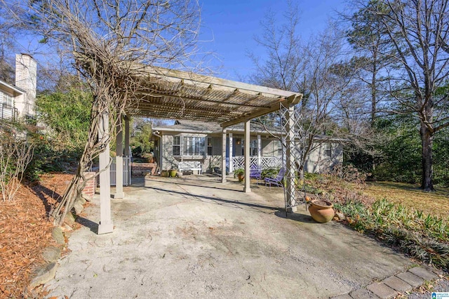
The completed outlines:
<svg viewBox="0 0 449 299">
<path fill-rule="evenodd" d="M 369 284 L 365 288 L 358 288 L 349 293 L 333 297 L 335 299 L 362 299 L 362 298 L 395 298 L 401 293 L 412 291 L 422 286 L 424 281 L 438 279 L 444 272 L 434 267 L 422 265 L 412 267 L 407 272 L 401 272 L 386 279 Z"/>
</svg>

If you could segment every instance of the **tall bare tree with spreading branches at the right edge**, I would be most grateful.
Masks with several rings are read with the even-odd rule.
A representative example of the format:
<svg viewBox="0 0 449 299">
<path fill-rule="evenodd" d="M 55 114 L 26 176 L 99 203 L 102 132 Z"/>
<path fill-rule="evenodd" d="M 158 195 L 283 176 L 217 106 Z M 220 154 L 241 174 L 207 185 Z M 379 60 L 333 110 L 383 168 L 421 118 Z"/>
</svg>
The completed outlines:
<svg viewBox="0 0 449 299">
<path fill-rule="evenodd" d="M 380 20 L 389 37 L 391 52 L 401 69 L 389 72 L 389 91 L 403 112 L 420 120 L 422 189 L 434 190 L 432 145 L 434 134 L 449 126 L 448 0 L 382 0 L 363 3 L 363 9 Z"/>
</svg>

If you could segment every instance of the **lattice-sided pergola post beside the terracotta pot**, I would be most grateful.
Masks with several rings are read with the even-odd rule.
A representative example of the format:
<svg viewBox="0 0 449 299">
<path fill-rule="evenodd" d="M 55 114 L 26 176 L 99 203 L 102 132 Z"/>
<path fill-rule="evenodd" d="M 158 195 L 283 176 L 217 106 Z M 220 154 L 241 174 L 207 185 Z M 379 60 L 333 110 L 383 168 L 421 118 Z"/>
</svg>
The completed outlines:
<svg viewBox="0 0 449 299">
<path fill-rule="evenodd" d="M 287 114 L 287 138 L 286 138 L 286 188 L 287 188 L 287 204 L 290 208 L 287 208 L 287 212 L 293 213 L 297 211 L 295 206 L 295 175 L 296 164 L 295 157 L 293 157 L 293 151 L 295 150 L 295 106 L 290 105 L 288 107 Z"/>
</svg>

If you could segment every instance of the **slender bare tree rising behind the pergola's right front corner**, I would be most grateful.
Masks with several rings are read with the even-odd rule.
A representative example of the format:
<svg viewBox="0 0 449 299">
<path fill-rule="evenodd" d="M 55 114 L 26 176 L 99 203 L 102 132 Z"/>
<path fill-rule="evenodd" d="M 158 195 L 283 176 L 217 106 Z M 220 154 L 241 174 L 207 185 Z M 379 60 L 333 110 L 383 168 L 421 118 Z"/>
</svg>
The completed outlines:
<svg viewBox="0 0 449 299">
<path fill-rule="evenodd" d="M 257 84 L 303 93 L 295 107 L 298 170 L 304 171 L 309 153 L 335 137 L 338 128 L 333 117 L 335 102 L 351 82 L 347 69 L 340 67 L 342 39 L 330 25 L 326 32 L 303 41 L 297 34 L 300 19 L 297 7 L 288 2 L 281 22 L 269 12 L 262 21 L 262 35 L 255 41 L 267 52 L 261 60 L 250 55 L 255 65 L 252 79 Z M 260 124 L 276 124 L 276 115 L 262 117 Z M 277 125 L 281 125 L 279 121 Z M 269 126 L 266 126 L 269 131 Z"/>
</svg>

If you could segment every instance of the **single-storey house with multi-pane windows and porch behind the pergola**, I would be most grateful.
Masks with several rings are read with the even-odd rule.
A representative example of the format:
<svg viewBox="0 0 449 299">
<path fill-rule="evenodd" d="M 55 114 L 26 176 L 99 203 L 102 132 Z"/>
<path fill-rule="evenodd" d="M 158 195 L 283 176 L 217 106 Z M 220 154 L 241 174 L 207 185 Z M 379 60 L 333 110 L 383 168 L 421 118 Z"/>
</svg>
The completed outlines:
<svg viewBox="0 0 449 299">
<path fill-rule="evenodd" d="M 177 168 L 180 161 L 199 161 L 203 171 L 221 168 L 222 128 L 216 123 L 175 121 L 173 126 L 153 128 L 155 157 L 161 169 Z M 226 157 L 228 171 L 243 168 L 243 124 L 227 128 Z M 250 166 L 253 168 L 280 168 L 282 145 L 279 133 L 271 135 L 262 126 L 251 124 Z M 341 140 L 322 142 L 307 158 L 304 170 L 311 173 L 328 171 L 343 161 Z M 232 154 L 229 154 L 232 153 Z M 231 158 L 231 159 L 229 159 Z"/>
</svg>

